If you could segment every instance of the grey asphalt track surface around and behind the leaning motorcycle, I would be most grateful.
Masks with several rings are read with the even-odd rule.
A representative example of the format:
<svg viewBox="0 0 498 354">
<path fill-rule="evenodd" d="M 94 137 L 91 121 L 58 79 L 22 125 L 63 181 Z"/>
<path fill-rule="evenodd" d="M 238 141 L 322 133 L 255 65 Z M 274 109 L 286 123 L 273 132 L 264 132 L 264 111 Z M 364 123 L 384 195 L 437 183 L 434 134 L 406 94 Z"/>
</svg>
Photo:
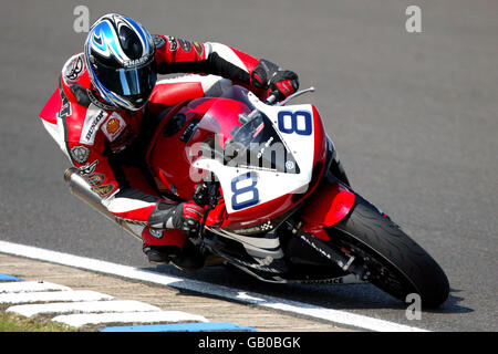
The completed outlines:
<svg viewBox="0 0 498 354">
<path fill-rule="evenodd" d="M 450 296 L 408 321 L 374 287 L 260 283 L 216 268 L 185 275 L 434 331 L 497 331 L 498 2 L 85 2 L 152 32 L 218 41 L 294 70 L 353 187 L 447 272 Z M 2 1 L 0 238 L 149 267 L 141 243 L 73 197 L 39 122 L 65 60 L 82 50 L 77 1 Z M 422 33 L 405 9 L 422 9 Z M 165 272 L 178 274 L 169 267 Z"/>
</svg>

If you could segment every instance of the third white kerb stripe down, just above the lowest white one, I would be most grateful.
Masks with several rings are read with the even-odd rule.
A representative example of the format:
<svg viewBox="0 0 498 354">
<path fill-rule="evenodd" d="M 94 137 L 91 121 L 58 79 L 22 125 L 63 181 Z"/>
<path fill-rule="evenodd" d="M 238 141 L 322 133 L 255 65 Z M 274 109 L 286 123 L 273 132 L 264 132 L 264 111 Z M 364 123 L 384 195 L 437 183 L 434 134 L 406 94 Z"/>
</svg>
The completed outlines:
<svg viewBox="0 0 498 354">
<path fill-rule="evenodd" d="M 38 314 L 146 311 L 160 311 L 160 309 L 148 303 L 134 300 L 52 302 L 43 304 L 15 305 L 7 309 L 7 312 L 15 312 L 27 317 Z"/>
</svg>

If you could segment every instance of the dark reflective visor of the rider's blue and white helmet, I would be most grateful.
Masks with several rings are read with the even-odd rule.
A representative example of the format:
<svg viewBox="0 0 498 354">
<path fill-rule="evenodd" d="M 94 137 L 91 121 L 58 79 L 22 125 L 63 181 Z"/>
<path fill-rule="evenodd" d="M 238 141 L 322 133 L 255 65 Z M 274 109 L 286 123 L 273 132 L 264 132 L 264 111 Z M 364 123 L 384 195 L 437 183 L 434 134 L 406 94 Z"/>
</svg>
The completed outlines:
<svg viewBox="0 0 498 354">
<path fill-rule="evenodd" d="M 153 69 L 153 60 L 141 66 L 118 69 L 98 64 L 94 72 L 101 84 L 120 96 L 148 97 L 154 88 L 157 74 Z"/>
</svg>

